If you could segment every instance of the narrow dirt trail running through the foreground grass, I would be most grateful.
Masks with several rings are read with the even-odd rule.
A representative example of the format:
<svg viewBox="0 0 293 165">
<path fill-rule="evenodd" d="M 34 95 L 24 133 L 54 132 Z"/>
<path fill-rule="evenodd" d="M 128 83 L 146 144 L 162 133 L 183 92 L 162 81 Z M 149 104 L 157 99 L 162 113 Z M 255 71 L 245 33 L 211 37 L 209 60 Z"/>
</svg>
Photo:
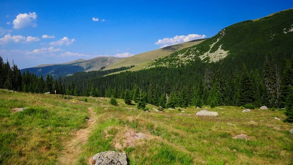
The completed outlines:
<svg viewBox="0 0 293 165">
<path fill-rule="evenodd" d="M 87 108 L 90 114 L 87 120 L 87 127 L 77 130 L 73 138 L 64 144 L 64 150 L 61 157 L 58 159 L 60 165 L 75 165 L 76 158 L 82 153 L 82 145 L 84 145 L 89 137 L 89 134 L 94 128 L 94 123 L 98 119 L 94 108 Z"/>
</svg>

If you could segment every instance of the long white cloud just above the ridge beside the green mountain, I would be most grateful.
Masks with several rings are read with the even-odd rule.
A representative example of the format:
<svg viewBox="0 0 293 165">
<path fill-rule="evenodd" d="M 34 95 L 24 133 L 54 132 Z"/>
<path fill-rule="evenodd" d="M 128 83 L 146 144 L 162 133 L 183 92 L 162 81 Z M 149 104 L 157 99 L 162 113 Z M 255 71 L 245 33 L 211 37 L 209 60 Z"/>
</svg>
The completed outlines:
<svg viewBox="0 0 293 165">
<path fill-rule="evenodd" d="M 160 39 L 158 40 L 158 42 L 156 42 L 156 45 L 174 45 L 174 44 L 178 44 L 178 43 L 183 43 L 183 42 L 188 42 L 191 40 L 196 40 L 196 39 L 204 39 L 207 38 L 206 35 L 198 35 L 198 34 L 188 34 L 187 36 L 185 35 L 181 35 L 181 36 L 175 36 L 173 38 L 164 38 L 164 39 Z"/>
</svg>

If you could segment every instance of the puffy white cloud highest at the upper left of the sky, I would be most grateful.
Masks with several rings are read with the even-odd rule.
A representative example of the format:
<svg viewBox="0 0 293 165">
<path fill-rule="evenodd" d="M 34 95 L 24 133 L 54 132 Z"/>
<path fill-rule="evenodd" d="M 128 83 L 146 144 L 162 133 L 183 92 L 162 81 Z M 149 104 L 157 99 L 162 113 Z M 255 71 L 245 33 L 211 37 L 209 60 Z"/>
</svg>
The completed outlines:
<svg viewBox="0 0 293 165">
<path fill-rule="evenodd" d="M 21 29 L 25 28 L 28 26 L 36 27 L 36 21 L 37 21 L 37 14 L 35 12 L 33 13 L 24 13 L 24 14 L 19 14 L 16 16 L 16 19 L 13 20 L 13 28 L 15 29 Z"/>
</svg>

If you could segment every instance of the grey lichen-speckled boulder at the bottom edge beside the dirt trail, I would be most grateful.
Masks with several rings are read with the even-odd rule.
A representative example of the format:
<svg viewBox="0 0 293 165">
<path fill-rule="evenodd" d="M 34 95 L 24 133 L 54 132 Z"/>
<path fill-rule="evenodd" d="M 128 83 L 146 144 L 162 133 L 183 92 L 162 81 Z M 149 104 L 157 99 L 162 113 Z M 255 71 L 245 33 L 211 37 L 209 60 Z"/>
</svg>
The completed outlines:
<svg viewBox="0 0 293 165">
<path fill-rule="evenodd" d="M 96 154 L 93 157 L 95 165 L 129 165 L 126 153 L 107 151 Z"/>
</svg>

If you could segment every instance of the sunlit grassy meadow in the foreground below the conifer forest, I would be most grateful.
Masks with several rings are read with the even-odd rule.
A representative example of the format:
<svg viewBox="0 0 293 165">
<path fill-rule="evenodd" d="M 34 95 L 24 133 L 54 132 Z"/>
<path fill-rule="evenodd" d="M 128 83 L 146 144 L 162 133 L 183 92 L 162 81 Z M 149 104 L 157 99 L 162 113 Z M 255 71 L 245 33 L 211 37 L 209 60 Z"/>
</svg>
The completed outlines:
<svg viewBox="0 0 293 165">
<path fill-rule="evenodd" d="M 210 118 L 195 116 L 194 107 L 155 112 L 147 105 L 149 113 L 122 99 L 115 107 L 109 98 L 84 98 L 0 90 L 0 164 L 86 165 L 108 150 L 126 152 L 131 165 L 293 164 L 293 124 L 283 123 L 282 111 L 207 108 L 219 114 Z M 21 107 L 29 108 L 11 110 Z M 233 139 L 239 134 L 249 140 Z"/>
</svg>

